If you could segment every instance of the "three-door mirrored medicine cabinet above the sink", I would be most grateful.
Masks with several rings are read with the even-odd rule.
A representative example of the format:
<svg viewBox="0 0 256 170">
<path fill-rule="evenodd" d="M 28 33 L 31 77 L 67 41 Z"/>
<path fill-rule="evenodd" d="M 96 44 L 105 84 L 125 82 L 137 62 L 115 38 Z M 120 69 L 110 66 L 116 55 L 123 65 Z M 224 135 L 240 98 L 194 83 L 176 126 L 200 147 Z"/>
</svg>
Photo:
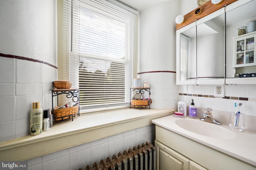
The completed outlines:
<svg viewBox="0 0 256 170">
<path fill-rule="evenodd" d="M 234 66 L 234 38 L 256 20 L 255 6 L 256 0 L 236 1 L 178 29 L 176 84 L 256 84 L 256 77 L 238 76 L 256 73 L 256 64 Z"/>
</svg>

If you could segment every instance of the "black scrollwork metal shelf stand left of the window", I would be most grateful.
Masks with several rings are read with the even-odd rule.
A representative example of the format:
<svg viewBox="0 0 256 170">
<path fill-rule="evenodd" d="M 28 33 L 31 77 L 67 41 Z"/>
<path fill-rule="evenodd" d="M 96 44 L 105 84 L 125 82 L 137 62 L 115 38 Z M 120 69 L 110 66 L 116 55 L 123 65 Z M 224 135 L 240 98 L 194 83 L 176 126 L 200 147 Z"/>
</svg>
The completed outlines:
<svg viewBox="0 0 256 170">
<path fill-rule="evenodd" d="M 73 121 L 73 117 L 75 117 L 76 115 L 80 116 L 80 103 L 79 103 L 79 88 L 72 88 L 72 89 L 52 89 L 52 115 L 54 115 L 54 107 L 53 107 L 53 98 L 55 96 L 57 96 L 57 106 L 59 104 L 59 95 L 61 94 L 66 94 L 67 98 L 72 98 L 73 102 L 78 102 L 78 112 L 74 113 L 72 115 L 67 115 L 67 116 L 62 116 L 62 117 L 54 117 L 54 119 L 62 119 L 64 117 L 72 117 L 72 121 Z"/>
</svg>

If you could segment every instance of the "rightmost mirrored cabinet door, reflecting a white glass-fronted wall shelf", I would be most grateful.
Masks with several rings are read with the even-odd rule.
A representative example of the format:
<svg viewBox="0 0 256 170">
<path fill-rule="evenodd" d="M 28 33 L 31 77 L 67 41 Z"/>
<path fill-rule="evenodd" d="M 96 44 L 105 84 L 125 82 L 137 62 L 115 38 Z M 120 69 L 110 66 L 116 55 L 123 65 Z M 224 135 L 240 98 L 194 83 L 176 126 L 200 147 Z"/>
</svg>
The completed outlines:
<svg viewBox="0 0 256 170">
<path fill-rule="evenodd" d="M 256 83 L 255 37 L 256 0 L 236 1 L 227 6 L 226 84 Z"/>
</svg>

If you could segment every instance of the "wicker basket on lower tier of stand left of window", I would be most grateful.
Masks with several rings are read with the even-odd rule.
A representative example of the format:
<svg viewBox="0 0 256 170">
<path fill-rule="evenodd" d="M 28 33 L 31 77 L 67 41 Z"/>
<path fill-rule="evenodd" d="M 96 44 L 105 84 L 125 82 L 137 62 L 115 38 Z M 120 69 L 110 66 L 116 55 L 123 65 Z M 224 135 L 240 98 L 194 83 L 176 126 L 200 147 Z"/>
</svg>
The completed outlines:
<svg viewBox="0 0 256 170">
<path fill-rule="evenodd" d="M 68 119 L 71 115 L 76 114 L 79 111 L 78 105 L 64 109 L 58 109 L 58 107 L 60 106 L 54 108 L 54 120 L 56 121 Z"/>
</svg>

